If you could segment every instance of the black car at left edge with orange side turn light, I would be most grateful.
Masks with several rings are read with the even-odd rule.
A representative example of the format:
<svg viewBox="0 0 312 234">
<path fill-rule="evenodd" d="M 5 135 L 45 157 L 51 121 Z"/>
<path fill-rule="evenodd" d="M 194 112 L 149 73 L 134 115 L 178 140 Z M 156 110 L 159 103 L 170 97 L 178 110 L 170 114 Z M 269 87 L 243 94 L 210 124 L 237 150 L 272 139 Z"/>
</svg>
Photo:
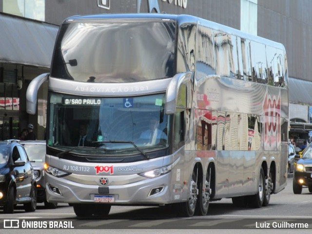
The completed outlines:
<svg viewBox="0 0 312 234">
<path fill-rule="evenodd" d="M 27 212 L 36 210 L 37 189 L 34 169 L 24 147 L 17 140 L 0 142 L 0 206 L 14 213 L 16 204 Z"/>
</svg>

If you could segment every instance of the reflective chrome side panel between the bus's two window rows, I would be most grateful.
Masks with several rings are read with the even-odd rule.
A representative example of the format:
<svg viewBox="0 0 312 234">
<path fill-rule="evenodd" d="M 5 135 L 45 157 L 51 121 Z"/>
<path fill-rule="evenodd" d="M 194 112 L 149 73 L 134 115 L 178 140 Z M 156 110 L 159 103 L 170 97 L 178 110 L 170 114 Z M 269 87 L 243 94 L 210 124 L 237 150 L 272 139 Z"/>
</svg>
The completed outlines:
<svg viewBox="0 0 312 234">
<path fill-rule="evenodd" d="M 266 106 L 267 105 L 267 106 Z M 288 117 L 288 92 L 272 86 L 233 78 L 207 75 L 196 81 L 194 108 L 264 115 L 278 105 L 271 116 Z"/>
</svg>

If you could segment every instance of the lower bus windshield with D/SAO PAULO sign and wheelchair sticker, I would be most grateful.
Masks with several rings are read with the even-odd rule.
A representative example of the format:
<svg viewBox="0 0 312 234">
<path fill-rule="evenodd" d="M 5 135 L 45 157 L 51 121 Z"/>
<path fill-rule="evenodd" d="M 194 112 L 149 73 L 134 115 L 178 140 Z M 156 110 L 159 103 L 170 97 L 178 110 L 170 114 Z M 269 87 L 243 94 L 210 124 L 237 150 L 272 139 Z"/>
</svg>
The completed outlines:
<svg viewBox="0 0 312 234">
<path fill-rule="evenodd" d="M 164 149 L 170 129 L 164 99 L 165 94 L 91 98 L 51 92 L 48 145 L 84 155 Z"/>
</svg>

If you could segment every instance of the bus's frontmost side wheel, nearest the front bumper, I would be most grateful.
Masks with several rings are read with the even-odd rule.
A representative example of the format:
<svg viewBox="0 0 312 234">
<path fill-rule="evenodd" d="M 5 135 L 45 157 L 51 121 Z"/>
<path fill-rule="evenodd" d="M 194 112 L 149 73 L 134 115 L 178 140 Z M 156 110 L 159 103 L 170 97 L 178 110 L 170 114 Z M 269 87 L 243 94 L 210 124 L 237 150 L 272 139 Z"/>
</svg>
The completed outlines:
<svg viewBox="0 0 312 234">
<path fill-rule="evenodd" d="M 193 174 L 192 174 L 190 192 L 191 192 L 191 198 L 188 201 L 177 204 L 178 207 L 180 208 L 179 215 L 182 217 L 191 217 L 191 216 L 194 216 L 195 214 L 196 201 L 197 201 L 197 195 L 198 195 L 195 171 L 193 171 Z"/>
</svg>

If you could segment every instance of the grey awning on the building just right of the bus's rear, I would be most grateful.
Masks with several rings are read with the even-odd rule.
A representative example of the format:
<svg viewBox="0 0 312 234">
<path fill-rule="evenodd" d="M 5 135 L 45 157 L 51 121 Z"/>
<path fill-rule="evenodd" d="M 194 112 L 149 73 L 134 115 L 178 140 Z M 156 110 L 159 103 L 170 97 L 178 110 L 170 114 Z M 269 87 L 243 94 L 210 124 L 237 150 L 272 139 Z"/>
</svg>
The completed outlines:
<svg viewBox="0 0 312 234">
<path fill-rule="evenodd" d="M 312 106 L 312 82 L 296 78 L 288 78 L 289 81 L 289 102 Z"/>
</svg>

